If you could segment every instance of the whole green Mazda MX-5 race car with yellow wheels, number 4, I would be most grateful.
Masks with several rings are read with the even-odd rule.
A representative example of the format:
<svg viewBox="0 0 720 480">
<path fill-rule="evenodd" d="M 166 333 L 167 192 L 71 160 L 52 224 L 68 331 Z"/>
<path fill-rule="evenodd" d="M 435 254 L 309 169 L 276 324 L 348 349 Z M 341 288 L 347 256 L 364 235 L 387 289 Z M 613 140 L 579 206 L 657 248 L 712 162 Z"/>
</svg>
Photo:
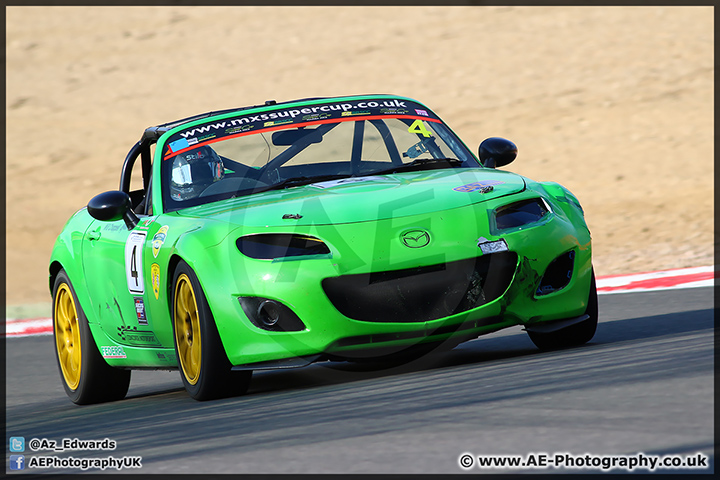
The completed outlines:
<svg viewBox="0 0 720 480">
<path fill-rule="evenodd" d="M 390 95 L 147 128 L 120 189 L 52 252 L 67 394 L 117 400 L 132 369 L 177 368 L 193 398 L 219 398 L 253 370 L 412 357 L 514 325 L 541 349 L 589 341 L 583 210 L 557 183 L 496 169 L 516 154 L 491 137 L 475 157 Z"/>
</svg>

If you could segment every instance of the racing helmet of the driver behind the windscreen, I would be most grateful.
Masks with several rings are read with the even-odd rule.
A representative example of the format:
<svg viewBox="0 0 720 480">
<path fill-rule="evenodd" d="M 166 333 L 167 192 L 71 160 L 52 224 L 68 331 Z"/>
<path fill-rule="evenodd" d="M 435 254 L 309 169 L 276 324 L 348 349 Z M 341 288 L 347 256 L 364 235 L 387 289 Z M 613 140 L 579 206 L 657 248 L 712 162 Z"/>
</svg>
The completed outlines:
<svg viewBox="0 0 720 480">
<path fill-rule="evenodd" d="M 220 156 L 205 145 L 180 153 L 173 160 L 170 196 L 184 201 L 195 198 L 209 185 L 221 180 L 225 166 Z"/>
</svg>

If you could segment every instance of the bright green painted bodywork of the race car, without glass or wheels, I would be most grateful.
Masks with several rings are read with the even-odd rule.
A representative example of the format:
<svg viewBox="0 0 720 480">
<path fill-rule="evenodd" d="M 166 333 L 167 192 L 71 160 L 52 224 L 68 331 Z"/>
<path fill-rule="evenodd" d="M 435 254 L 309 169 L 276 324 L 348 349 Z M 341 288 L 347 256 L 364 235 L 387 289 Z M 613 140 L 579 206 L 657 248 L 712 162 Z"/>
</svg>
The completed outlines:
<svg viewBox="0 0 720 480">
<path fill-rule="evenodd" d="M 60 268 L 67 271 L 95 343 L 110 365 L 177 367 L 170 304 L 180 259 L 198 276 L 228 359 L 248 368 L 318 354 L 342 356 L 377 347 L 467 340 L 513 325 L 577 317 L 587 307 L 590 233 L 577 199 L 556 183 L 478 165 L 378 175 L 324 188 L 297 186 L 163 213 L 160 152 L 179 128 L 157 142 L 154 214 L 140 215 L 129 230 L 123 220 L 95 220 L 83 208 L 67 222 L 52 252 L 50 285 Z M 481 181 L 502 183 L 488 193 L 453 190 Z M 494 227 L 495 209 L 537 197 L 551 207 L 541 221 L 503 231 Z M 291 218 L 283 218 L 288 214 Z M 412 229 L 428 231 L 429 244 L 404 245 L 400 234 Z M 236 240 L 258 233 L 310 235 L 322 240 L 330 253 L 274 260 L 241 254 Z M 128 241 L 131 235 L 136 243 Z M 333 306 L 321 286 L 328 277 L 477 257 L 482 254 L 481 237 L 505 240 L 518 256 L 515 273 L 500 298 L 460 314 L 426 322 L 352 320 Z M 129 251 L 133 247 L 134 253 Z M 568 251 L 575 252 L 575 263 L 567 286 L 536 295 L 550 262 Z M 260 329 L 244 313 L 240 296 L 278 300 L 306 329 Z M 355 340 L 343 341 L 348 338 Z"/>
</svg>

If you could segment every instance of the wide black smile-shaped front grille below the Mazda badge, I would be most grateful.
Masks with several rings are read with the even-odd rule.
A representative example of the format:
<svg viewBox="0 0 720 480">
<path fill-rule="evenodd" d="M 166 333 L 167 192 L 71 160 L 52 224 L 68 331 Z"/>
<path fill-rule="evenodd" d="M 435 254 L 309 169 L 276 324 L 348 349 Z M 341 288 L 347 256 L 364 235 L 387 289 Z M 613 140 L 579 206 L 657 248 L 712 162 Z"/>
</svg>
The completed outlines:
<svg viewBox="0 0 720 480">
<path fill-rule="evenodd" d="M 510 285 L 517 254 L 498 252 L 427 267 L 330 277 L 335 308 L 366 322 L 427 322 L 479 307 Z"/>
</svg>

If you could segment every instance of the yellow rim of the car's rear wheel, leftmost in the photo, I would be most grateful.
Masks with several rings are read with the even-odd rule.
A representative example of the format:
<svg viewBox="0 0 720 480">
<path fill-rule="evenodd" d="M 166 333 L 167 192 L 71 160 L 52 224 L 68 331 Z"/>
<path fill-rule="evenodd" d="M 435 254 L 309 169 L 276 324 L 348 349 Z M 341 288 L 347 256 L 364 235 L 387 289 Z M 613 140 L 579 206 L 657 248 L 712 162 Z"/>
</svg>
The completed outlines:
<svg viewBox="0 0 720 480">
<path fill-rule="evenodd" d="M 80 323 L 70 285 L 61 283 L 55 296 L 55 346 L 65 383 L 71 390 L 80 384 L 82 345 Z"/>
</svg>

